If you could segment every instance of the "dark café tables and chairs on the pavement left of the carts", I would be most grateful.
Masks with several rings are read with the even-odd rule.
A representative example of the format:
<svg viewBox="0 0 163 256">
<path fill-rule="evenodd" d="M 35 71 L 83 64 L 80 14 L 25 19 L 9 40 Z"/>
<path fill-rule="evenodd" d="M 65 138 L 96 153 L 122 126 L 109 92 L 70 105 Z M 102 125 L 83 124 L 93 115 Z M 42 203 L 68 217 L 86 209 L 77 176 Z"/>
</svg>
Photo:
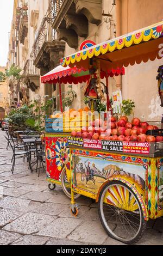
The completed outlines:
<svg viewBox="0 0 163 256">
<path fill-rule="evenodd" d="M 40 132 L 30 129 L 10 132 L 6 129 L 4 137 L 7 140 L 7 150 L 12 149 L 12 174 L 18 158 L 27 161 L 31 172 L 38 172 L 38 176 L 41 169 L 45 171 L 45 143 Z"/>
</svg>

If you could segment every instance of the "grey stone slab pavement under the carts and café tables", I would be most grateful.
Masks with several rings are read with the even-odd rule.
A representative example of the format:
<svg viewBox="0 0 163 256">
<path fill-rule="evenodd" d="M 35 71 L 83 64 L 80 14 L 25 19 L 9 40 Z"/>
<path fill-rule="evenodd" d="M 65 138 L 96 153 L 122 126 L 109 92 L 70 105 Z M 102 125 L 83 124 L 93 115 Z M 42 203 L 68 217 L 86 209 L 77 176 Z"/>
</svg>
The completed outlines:
<svg viewBox="0 0 163 256">
<path fill-rule="evenodd" d="M 70 199 L 61 187 L 49 191 L 45 173 L 40 177 L 6 150 L 0 131 L 0 245 L 123 245 L 105 233 L 97 205 L 80 197 L 79 216 L 70 213 Z M 163 218 L 149 221 L 139 245 L 163 245 Z"/>
</svg>

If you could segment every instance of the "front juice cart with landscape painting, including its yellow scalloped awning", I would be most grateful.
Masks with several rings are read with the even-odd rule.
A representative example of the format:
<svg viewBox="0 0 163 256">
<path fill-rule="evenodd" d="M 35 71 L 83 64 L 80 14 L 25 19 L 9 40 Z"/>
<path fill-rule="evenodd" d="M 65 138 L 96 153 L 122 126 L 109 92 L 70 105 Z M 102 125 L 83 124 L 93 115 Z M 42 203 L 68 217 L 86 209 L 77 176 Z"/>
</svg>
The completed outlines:
<svg viewBox="0 0 163 256">
<path fill-rule="evenodd" d="M 88 69 L 91 60 L 106 70 L 161 59 L 162 25 L 77 52 L 61 59 L 61 65 Z M 138 241 L 149 218 L 163 216 L 163 142 L 80 138 L 80 147 L 78 142 L 68 138 L 72 214 L 78 214 L 74 193 L 93 198 L 109 236 L 124 243 Z"/>
</svg>

